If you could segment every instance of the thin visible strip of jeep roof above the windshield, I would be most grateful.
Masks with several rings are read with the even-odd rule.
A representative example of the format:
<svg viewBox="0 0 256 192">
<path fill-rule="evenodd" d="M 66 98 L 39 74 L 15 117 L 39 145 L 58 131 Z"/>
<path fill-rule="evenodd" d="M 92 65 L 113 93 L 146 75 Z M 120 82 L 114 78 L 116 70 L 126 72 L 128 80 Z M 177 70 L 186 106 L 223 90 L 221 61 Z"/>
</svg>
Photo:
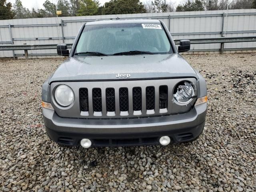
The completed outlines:
<svg viewBox="0 0 256 192">
<path fill-rule="evenodd" d="M 127 19 L 127 20 L 102 20 L 88 22 L 86 25 L 99 25 L 99 24 L 122 24 L 122 23 L 160 23 L 156 19 Z"/>
</svg>

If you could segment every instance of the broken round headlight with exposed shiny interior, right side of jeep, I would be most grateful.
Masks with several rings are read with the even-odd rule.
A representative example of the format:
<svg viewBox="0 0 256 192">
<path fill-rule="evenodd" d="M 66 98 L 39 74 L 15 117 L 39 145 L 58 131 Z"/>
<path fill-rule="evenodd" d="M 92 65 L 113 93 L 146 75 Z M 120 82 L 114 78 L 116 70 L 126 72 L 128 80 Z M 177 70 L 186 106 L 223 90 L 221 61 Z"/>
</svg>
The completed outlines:
<svg viewBox="0 0 256 192">
<path fill-rule="evenodd" d="M 174 98 L 179 103 L 188 103 L 194 96 L 194 88 L 191 82 L 182 81 L 174 89 Z"/>
</svg>

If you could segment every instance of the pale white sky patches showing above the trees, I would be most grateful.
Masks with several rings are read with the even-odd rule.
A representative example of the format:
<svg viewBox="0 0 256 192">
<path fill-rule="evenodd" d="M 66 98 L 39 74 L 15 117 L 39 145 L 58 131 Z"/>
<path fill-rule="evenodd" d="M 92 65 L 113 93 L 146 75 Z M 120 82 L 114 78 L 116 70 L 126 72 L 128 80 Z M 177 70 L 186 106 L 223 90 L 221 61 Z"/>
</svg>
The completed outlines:
<svg viewBox="0 0 256 192">
<path fill-rule="evenodd" d="M 50 0 L 50 2 L 57 3 L 58 0 Z M 109 0 L 99 0 L 100 4 L 104 4 Z M 151 0 L 140 0 L 141 2 L 151 2 Z M 166 0 L 166 2 L 169 2 L 170 0 Z M 173 3 L 176 3 L 176 5 L 179 4 L 179 2 L 183 2 L 184 0 L 172 0 Z M 11 2 L 14 4 L 15 0 L 7 0 L 7 2 Z M 21 0 L 22 5 L 26 8 L 32 9 L 34 8 L 43 8 L 43 3 L 45 0 Z"/>
</svg>

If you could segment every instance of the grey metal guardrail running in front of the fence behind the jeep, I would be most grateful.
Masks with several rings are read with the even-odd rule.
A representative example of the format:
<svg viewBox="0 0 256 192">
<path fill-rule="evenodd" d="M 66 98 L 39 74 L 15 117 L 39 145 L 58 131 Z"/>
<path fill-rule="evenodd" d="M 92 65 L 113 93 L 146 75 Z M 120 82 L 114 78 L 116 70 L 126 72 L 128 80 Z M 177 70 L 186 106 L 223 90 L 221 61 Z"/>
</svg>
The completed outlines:
<svg viewBox="0 0 256 192">
<path fill-rule="evenodd" d="M 175 44 L 180 43 L 180 39 L 174 40 Z M 219 38 L 201 38 L 201 39 L 190 39 L 190 44 L 211 44 L 220 43 L 220 54 L 224 53 L 224 43 L 235 43 L 235 42 L 256 42 L 256 36 L 246 37 L 219 37 Z M 72 47 L 72 44 L 67 44 L 68 48 Z M 56 49 L 56 44 L 39 44 L 39 45 L 0 45 L 0 51 L 6 50 L 24 50 L 25 58 L 28 59 L 28 50 L 40 50 L 40 49 Z M 236 50 L 243 50 L 248 48 L 236 48 Z M 255 48 L 252 48 L 255 49 Z M 228 50 L 228 49 L 227 49 Z M 193 51 L 193 50 L 191 50 Z M 204 51 L 204 50 L 201 50 Z"/>
</svg>

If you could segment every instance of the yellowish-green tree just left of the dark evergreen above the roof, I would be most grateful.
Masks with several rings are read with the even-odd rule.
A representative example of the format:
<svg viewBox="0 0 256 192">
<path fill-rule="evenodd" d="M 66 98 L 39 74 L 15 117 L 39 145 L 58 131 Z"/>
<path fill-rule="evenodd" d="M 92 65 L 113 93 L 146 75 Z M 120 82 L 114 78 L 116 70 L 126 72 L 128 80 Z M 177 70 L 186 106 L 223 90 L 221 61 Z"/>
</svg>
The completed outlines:
<svg viewBox="0 0 256 192">
<path fill-rule="evenodd" d="M 99 8 L 98 0 L 80 0 L 79 10 L 76 16 L 96 15 Z"/>
</svg>

